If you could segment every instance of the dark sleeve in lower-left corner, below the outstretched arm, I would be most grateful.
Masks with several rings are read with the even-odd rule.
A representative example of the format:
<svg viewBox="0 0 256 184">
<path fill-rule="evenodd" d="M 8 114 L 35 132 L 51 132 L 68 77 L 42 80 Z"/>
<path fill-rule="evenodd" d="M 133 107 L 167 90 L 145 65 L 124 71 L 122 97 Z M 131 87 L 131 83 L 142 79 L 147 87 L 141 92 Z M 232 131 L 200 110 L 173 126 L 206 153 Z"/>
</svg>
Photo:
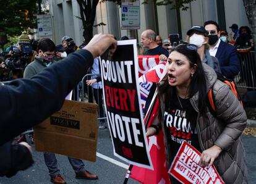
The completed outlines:
<svg viewBox="0 0 256 184">
<path fill-rule="evenodd" d="M 11 141 L 0 146 L 0 177 L 12 177 L 19 170 L 33 164 L 32 154 L 26 146 Z"/>
</svg>

